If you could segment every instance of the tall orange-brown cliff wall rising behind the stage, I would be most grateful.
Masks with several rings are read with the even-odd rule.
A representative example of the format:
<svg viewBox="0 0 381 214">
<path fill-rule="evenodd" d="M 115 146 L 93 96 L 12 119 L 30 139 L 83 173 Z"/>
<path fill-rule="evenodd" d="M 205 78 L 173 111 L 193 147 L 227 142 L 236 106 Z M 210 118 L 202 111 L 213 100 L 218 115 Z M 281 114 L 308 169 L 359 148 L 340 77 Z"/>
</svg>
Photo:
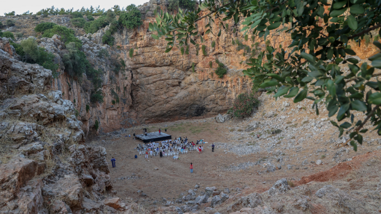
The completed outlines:
<svg viewBox="0 0 381 214">
<path fill-rule="evenodd" d="M 253 41 L 250 33 L 248 41 L 245 41 L 243 32 L 240 32 L 241 25 L 235 26 L 232 21 L 225 21 L 223 24 L 228 24 L 229 27 L 222 29 L 216 20 L 212 33 L 204 35 L 203 42 L 200 38 L 195 38 L 195 42 L 199 44 L 198 55 L 193 45 L 190 45 L 189 54 L 182 55 L 176 47 L 170 53 L 164 53 L 167 42 L 164 39 L 154 40 L 151 37 L 152 32 L 147 29 L 149 23 L 155 22 L 154 10 L 158 7 L 166 10 L 166 5 L 165 0 L 151 0 L 140 6 L 143 25 L 116 32 L 113 47 L 101 45 L 102 36 L 108 27 L 92 35 L 79 37 L 90 62 L 95 68 L 103 70 L 104 102 L 91 104 L 87 80 L 73 80 L 64 72 L 54 80 L 53 88 L 63 91 L 64 99 L 74 103 L 86 134 L 96 132 L 96 120 L 100 123 L 101 132 L 109 132 L 140 123 L 214 115 L 227 111 L 240 93 L 251 91 L 251 80 L 242 74 L 242 70 L 247 68 L 244 61 L 249 58 L 249 54 L 244 56 L 245 50 L 238 51 L 237 45 L 233 45 L 232 41 L 238 39 L 251 49 L 258 42 L 258 51 L 265 50 L 265 41 L 258 38 Z M 205 21 L 206 19 L 202 19 L 197 23 L 201 33 L 206 31 Z M 219 29 L 222 32 L 217 37 Z M 288 34 L 273 33 L 267 39 L 273 47 L 278 48 L 281 45 L 290 53 L 291 50 L 286 48 L 291 44 Z M 212 42 L 215 42 L 214 48 L 211 47 Z M 59 41 L 56 43 L 56 49 L 60 49 Z M 202 45 L 206 46 L 207 55 L 202 54 Z M 372 46 L 358 47 L 355 43 L 351 45 L 360 58 L 367 58 L 376 52 Z M 46 47 L 47 44 L 43 46 Z M 134 49 L 133 57 L 128 55 L 131 48 Z M 111 59 L 97 55 L 100 49 L 106 49 L 111 57 L 122 58 L 127 65 L 126 70 L 115 74 Z M 57 50 L 53 52 L 58 53 Z M 213 75 L 217 68 L 215 59 L 228 67 L 228 73 L 223 78 Z M 210 61 L 213 62 L 212 68 L 209 67 Z M 64 66 L 61 68 L 63 71 Z M 116 92 L 120 103 L 112 104 L 116 100 L 112 91 Z M 89 111 L 86 111 L 86 105 L 90 106 Z"/>
</svg>

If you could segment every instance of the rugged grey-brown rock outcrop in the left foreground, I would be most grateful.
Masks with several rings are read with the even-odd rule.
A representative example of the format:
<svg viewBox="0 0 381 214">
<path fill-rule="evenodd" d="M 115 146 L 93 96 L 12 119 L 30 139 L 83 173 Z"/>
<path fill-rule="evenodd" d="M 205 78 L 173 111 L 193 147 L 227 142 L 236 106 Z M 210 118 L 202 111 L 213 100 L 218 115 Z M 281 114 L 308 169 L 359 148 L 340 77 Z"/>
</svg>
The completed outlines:
<svg viewBox="0 0 381 214">
<path fill-rule="evenodd" d="M 82 145 L 52 71 L 14 59 L 5 38 L 0 47 L 0 214 L 132 212 L 112 197 L 106 149 Z"/>
</svg>

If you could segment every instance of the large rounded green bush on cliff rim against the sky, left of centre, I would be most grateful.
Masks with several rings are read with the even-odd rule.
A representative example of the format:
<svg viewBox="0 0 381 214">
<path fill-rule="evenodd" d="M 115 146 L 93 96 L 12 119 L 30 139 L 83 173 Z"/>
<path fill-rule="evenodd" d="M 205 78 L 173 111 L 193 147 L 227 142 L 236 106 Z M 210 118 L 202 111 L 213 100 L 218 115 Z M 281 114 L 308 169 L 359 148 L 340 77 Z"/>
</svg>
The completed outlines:
<svg viewBox="0 0 381 214">
<path fill-rule="evenodd" d="M 119 23 L 128 29 L 133 29 L 143 24 L 140 10 L 135 4 L 128 5 L 126 11 L 121 12 Z"/>
</svg>

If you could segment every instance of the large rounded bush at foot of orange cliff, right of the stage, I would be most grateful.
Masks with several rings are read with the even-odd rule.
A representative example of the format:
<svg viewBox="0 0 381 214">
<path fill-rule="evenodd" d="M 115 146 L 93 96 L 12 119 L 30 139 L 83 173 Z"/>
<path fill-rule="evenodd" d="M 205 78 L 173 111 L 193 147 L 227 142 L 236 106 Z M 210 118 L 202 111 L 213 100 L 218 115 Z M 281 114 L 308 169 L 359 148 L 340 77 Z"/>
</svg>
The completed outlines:
<svg viewBox="0 0 381 214">
<path fill-rule="evenodd" d="M 259 101 L 254 93 L 242 93 L 234 100 L 233 107 L 228 110 L 228 114 L 235 118 L 243 118 L 253 113 L 253 108 L 259 106 Z"/>
</svg>

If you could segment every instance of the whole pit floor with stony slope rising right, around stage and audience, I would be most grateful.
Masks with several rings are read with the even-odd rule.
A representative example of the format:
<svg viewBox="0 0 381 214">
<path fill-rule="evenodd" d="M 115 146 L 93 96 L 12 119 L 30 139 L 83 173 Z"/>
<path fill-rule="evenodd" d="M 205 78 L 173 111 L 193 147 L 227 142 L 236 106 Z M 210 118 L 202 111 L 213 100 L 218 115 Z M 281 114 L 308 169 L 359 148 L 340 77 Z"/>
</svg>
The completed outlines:
<svg viewBox="0 0 381 214">
<path fill-rule="evenodd" d="M 222 213 L 226 213 L 226 207 L 241 196 L 263 193 L 282 178 L 290 181 L 291 187 L 308 185 L 312 194 L 324 185 L 333 184 L 344 191 L 377 188 L 381 177 L 378 151 L 381 146 L 376 132 L 366 133 L 363 145 L 359 145 L 355 152 L 352 147 L 341 145 L 343 139 L 338 138 L 337 128 L 329 122 L 334 118 L 327 118 L 326 111 L 322 110 L 317 116 L 307 108 L 310 104 L 306 102 L 300 104 L 302 107 L 297 107 L 287 99 L 275 102 L 266 95 L 259 99 L 262 100 L 261 107 L 246 120 L 217 123 L 215 118 L 198 118 L 147 124 L 128 128 L 120 134 L 98 136 L 88 144 L 105 147 L 108 159 L 114 157 L 117 160 L 117 167 L 110 167 L 117 196 L 131 197 L 146 208 L 155 204 L 160 206 L 163 198 L 168 201 L 180 199 L 183 196 L 181 193 L 194 189 L 195 184 L 200 186 L 198 191 L 204 191 L 208 186 L 231 190 L 231 197 L 219 209 Z M 291 103 L 290 106 L 283 107 L 284 101 Z M 361 118 L 362 115 L 356 117 Z M 254 121 L 259 121 L 260 126 L 245 131 Z M 152 157 L 147 161 L 139 154 L 135 160 L 134 148 L 142 142 L 126 137 L 126 134 L 141 134 L 143 128 L 147 128 L 148 132 L 159 128 L 165 132 L 167 129 L 166 133 L 172 135 L 172 139 L 179 136 L 188 137 L 193 142 L 204 139 L 208 144 L 203 145 L 202 154 L 195 151 L 180 154 L 180 160 Z M 275 129 L 282 132 L 273 134 Z M 257 138 L 257 135 L 260 137 Z M 212 153 L 212 143 L 224 147 Z M 317 160 L 321 160 L 322 164 L 316 164 Z M 192 174 L 189 170 L 191 162 L 194 165 Z M 249 165 L 242 167 L 249 162 Z M 109 164 L 111 166 L 111 162 Z M 269 165 L 281 168 L 268 171 Z M 288 168 L 289 165 L 291 168 Z M 133 173 L 135 177 L 131 177 Z M 236 192 L 237 187 L 243 189 L 242 192 Z M 139 190 L 146 196 L 137 193 Z M 202 207 L 205 206 L 208 205 Z M 334 212 L 320 208 L 321 204 L 312 206 L 312 213 Z M 375 210 L 376 205 L 372 206 Z"/>
</svg>

